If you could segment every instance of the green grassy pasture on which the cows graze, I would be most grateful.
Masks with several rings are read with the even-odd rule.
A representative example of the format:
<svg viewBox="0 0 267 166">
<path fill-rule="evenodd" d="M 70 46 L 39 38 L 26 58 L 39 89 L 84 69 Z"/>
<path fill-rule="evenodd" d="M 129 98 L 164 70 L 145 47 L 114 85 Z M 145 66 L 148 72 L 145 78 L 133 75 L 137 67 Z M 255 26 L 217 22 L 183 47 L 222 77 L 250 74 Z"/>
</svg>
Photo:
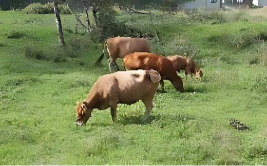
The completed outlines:
<svg viewBox="0 0 267 166">
<path fill-rule="evenodd" d="M 119 14 L 151 52 L 187 53 L 203 71 L 179 93 L 165 81 L 148 122 L 142 102 L 94 110 L 76 126 L 75 103 L 109 73 L 103 50 L 73 15 L 0 11 L 0 165 L 266 165 L 267 23 L 246 11 Z M 106 53 L 107 54 L 107 53 Z M 107 56 L 106 56 L 107 57 Z M 121 65 L 121 61 L 118 60 Z M 249 130 L 236 130 L 236 119 Z"/>
</svg>

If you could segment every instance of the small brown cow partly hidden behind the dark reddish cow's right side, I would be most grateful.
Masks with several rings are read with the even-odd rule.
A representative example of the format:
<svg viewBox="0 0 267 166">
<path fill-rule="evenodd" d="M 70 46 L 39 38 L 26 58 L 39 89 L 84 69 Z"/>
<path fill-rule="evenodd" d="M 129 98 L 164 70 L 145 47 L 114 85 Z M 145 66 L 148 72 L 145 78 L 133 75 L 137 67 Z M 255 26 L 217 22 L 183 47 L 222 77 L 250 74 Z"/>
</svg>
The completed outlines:
<svg viewBox="0 0 267 166">
<path fill-rule="evenodd" d="M 191 60 L 189 57 L 168 56 L 167 58 L 173 62 L 174 68 L 178 72 L 180 72 L 180 70 L 184 70 L 186 79 L 188 74 L 191 76 L 191 78 L 193 77 L 192 74 L 196 75 L 197 79 L 200 79 L 203 76 L 200 68 L 197 68 L 193 60 Z"/>
</svg>

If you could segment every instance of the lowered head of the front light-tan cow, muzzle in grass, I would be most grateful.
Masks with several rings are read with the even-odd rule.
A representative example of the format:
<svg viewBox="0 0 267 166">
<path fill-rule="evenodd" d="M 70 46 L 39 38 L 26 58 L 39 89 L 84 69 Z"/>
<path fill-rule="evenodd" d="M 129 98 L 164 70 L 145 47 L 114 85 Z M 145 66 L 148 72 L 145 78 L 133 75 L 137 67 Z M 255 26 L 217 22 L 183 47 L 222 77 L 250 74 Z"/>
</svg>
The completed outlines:
<svg viewBox="0 0 267 166">
<path fill-rule="evenodd" d="M 85 124 L 88 119 L 91 117 L 92 110 L 89 110 L 87 108 L 87 102 L 79 102 L 76 106 L 76 121 L 75 124 L 77 125 L 83 125 Z"/>
</svg>

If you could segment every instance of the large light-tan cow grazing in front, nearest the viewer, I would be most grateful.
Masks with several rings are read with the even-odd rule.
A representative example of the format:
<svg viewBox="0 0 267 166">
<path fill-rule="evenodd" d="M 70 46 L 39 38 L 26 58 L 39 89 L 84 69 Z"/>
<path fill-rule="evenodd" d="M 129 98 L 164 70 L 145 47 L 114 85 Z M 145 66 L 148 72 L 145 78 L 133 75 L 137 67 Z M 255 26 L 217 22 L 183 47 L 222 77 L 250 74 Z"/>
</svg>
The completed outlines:
<svg viewBox="0 0 267 166">
<path fill-rule="evenodd" d="M 133 104 L 142 100 L 146 120 L 152 109 L 152 100 L 159 86 L 160 75 L 155 70 L 118 71 L 101 76 L 94 83 L 87 98 L 76 106 L 76 124 L 82 125 L 91 117 L 94 108 L 110 107 L 112 121 L 117 119 L 117 104 Z"/>
</svg>

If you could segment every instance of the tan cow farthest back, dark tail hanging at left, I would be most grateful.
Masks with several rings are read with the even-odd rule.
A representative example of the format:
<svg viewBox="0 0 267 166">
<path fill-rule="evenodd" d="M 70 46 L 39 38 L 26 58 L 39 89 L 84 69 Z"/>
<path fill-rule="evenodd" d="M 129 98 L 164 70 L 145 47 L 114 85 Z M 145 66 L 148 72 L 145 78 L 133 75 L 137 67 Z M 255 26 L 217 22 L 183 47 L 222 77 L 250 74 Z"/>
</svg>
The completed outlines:
<svg viewBox="0 0 267 166">
<path fill-rule="evenodd" d="M 149 45 L 146 39 L 143 38 L 126 38 L 116 37 L 109 38 L 104 44 L 103 54 L 99 57 L 97 63 L 100 63 L 104 57 L 105 46 L 109 54 L 109 70 L 110 72 L 119 71 L 119 67 L 116 63 L 118 58 L 123 59 L 127 54 L 133 52 L 150 52 Z"/>
</svg>

